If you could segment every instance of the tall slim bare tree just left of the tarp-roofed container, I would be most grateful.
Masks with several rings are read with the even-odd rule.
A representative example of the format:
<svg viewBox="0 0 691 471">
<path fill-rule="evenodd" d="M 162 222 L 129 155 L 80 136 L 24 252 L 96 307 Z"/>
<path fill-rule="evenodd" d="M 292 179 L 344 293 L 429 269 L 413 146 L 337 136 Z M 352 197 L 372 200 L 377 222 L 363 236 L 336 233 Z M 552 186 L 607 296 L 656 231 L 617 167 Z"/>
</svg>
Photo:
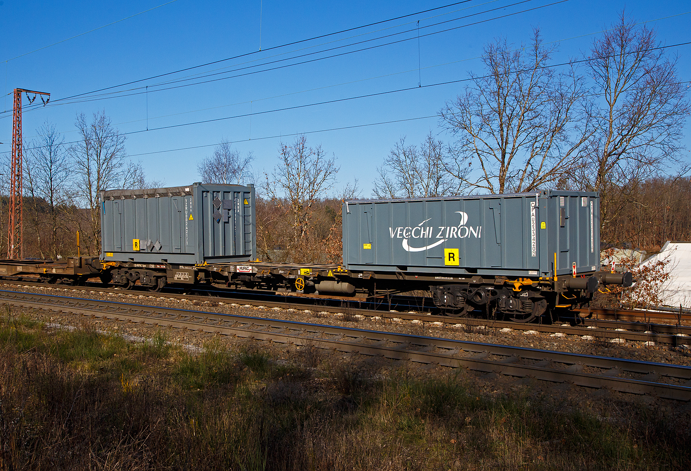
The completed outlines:
<svg viewBox="0 0 691 471">
<path fill-rule="evenodd" d="M 70 146 L 75 172 L 75 195 L 79 205 L 88 210 L 88 231 L 82 240 L 88 253 L 101 244 L 101 220 L 98 193 L 122 186 L 126 169 L 125 137 L 118 133 L 105 110 L 93 114 L 91 122 L 84 113 L 75 121 L 79 142 Z"/>
</svg>

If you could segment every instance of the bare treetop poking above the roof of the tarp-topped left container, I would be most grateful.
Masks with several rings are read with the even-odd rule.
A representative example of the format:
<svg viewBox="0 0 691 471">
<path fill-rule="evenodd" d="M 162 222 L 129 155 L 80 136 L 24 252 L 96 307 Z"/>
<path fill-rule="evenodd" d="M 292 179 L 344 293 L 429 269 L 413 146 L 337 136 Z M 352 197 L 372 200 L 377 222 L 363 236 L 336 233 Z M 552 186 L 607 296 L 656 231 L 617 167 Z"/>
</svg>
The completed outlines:
<svg viewBox="0 0 691 471">
<path fill-rule="evenodd" d="M 216 148 L 211 157 L 206 157 L 198 165 L 197 170 L 203 183 L 238 184 L 245 180 L 252 180 L 251 152 L 245 157 L 240 151 L 231 147 L 231 143 L 224 140 Z"/>
</svg>

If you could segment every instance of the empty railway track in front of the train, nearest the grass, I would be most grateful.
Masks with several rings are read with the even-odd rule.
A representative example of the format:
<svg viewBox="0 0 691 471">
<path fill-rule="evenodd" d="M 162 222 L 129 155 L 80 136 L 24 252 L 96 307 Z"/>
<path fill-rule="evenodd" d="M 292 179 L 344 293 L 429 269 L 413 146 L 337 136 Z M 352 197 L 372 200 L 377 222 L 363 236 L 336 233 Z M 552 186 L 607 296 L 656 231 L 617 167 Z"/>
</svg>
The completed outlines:
<svg viewBox="0 0 691 471">
<path fill-rule="evenodd" d="M 691 400 L 691 367 L 679 365 L 53 294 L 0 291 L 0 303 Z"/>
</svg>

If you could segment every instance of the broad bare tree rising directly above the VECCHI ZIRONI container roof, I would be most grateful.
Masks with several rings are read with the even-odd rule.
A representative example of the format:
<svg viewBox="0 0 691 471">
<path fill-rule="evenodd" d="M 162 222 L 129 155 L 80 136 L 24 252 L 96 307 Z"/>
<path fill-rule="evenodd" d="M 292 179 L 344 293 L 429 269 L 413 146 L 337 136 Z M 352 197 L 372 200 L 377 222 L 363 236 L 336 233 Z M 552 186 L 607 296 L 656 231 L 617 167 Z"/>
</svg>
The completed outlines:
<svg viewBox="0 0 691 471">
<path fill-rule="evenodd" d="M 578 163 L 591 134 L 583 79 L 553 70 L 554 50 L 542 46 L 537 29 L 527 46 L 488 44 L 486 75 L 471 73 L 464 94 L 440 110 L 442 125 L 458 137 L 447 169 L 471 191 L 531 191 Z"/>
</svg>

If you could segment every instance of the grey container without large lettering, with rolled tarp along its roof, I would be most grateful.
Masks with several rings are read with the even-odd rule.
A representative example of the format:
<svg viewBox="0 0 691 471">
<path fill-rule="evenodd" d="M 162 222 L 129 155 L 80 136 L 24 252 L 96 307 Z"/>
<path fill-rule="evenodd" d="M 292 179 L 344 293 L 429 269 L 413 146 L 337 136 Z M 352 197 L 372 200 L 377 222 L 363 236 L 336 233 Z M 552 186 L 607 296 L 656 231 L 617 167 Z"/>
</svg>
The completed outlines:
<svg viewBox="0 0 691 471">
<path fill-rule="evenodd" d="M 256 259 L 254 186 L 101 191 L 101 258 L 196 265 Z"/>
</svg>

